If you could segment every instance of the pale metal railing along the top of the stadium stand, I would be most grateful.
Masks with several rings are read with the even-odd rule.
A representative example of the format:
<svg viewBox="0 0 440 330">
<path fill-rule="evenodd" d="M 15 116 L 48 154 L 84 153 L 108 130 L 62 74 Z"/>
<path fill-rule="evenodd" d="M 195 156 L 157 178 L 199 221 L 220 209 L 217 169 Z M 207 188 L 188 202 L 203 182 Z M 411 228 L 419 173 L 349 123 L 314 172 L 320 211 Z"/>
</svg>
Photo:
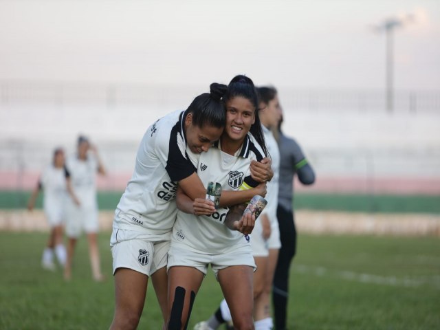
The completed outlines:
<svg viewBox="0 0 440 330">
<path fill-rule="evenodd" d="M 0 81 L 0 107 L 8 104 L 189 104 L 206 86 Z M 386 111 L 380 89 L 296 89 L 279 87 L 286 109 Z M 395 112 L 440 112 L 440 91 L 396 90 Z"/>
</svg>

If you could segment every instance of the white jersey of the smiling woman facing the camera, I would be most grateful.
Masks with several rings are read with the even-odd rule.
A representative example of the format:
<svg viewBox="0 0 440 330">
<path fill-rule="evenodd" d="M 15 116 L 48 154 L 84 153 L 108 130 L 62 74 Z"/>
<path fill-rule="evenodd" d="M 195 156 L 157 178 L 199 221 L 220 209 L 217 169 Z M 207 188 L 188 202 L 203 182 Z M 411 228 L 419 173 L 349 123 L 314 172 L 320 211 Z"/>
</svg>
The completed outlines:
<svg viewBox="0 0 440 330">
<path fill-rule="evenodd" d="M 207 153 L 195 155 L 188 150 L 187 153 L 197 167 L 197 175 L 204 186 L 208 186 L 209 181 L 219 182 L 222 190 L 258 185 L 250 176 L 250 162 L 254 159 L 260 161 L 264 153 L 249 135 L 234 156 L 223 153 L 220 142 L 216 142 Z M 219 208 L 210 216 L 195 216 L 178 210 L 171 245 L 184 244 L 195 252 L 221 254 L 233 250 L 236 244 L 248 244 L 243 234 L 226 227 L 227 213 L 228 208 Z"/>
</svg>

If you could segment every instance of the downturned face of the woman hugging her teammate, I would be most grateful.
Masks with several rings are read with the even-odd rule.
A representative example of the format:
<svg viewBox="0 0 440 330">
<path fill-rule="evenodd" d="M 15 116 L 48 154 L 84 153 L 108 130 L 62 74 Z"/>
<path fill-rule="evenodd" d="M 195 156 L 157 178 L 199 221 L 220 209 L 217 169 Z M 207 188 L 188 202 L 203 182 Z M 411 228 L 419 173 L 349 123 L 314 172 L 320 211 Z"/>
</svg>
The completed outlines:
<svg viewBox="0 0 440 330">
<path fill-rule="evenodd" d="M 206 152 L 212 143 L 219 140 L 223 127 L 214 127 L 205 124 L 202 127 L 192 124 L 192 113 L 185 118 L 186 144 L 193 153 Z"/>
</svg>

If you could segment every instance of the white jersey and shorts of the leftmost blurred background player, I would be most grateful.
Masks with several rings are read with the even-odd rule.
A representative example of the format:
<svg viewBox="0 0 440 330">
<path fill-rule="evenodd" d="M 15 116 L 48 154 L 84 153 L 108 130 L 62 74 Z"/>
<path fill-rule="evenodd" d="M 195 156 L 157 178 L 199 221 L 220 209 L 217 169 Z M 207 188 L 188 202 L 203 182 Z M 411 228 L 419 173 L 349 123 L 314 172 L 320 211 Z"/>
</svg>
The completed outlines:
<svg viewBox="0 0 440 330">
<path fill-rule="evenodd" d="M 51 225 L 61 223 L 65 218 L 65 201 L 67 197 L 66 168 L 47 166 L 41 175 L 39 184 L 44 189 L 43 209 Z"/>
</svg>

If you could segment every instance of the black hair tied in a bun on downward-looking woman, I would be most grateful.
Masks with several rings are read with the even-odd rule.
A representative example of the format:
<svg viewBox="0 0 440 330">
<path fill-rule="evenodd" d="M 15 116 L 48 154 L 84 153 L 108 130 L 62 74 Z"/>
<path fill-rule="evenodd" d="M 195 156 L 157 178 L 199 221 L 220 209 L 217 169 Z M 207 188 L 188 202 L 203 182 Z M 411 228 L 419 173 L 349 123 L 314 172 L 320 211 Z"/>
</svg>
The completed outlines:
<svg viewBox="0 0 440 330">
<path fill-rule="evenodd" d="M 185 111 L 185 118 L 192 113 L 192 124 L 202 127 L 205 124 L 222 128 L 226 124 L 225 104 L 222 100 L 228 86 L 212 83 L 210 93 L 203 93 L 192 100 Z"/>
</svg>

